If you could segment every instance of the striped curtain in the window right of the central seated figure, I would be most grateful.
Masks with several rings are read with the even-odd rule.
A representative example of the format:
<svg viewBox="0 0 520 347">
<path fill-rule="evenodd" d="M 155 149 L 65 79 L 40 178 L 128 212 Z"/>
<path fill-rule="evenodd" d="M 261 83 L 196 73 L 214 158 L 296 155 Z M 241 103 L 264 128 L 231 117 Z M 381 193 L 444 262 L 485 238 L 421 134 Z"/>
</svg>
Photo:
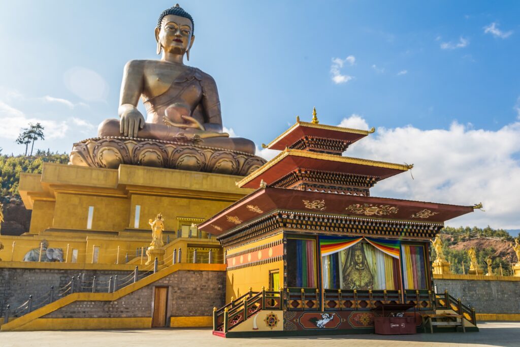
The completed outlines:
<svg viewBox="0 0 520 347">
<path fill-rule="evenodd" d="M 424 247 L 401 245 L 405 289 L 427 289 Z"/>
</svg>

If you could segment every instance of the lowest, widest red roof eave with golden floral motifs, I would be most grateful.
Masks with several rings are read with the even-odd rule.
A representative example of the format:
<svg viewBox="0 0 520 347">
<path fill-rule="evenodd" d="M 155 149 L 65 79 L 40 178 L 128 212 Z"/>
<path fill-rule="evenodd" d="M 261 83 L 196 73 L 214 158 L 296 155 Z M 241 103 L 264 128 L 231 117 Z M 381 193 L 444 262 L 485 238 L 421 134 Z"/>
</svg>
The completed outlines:
<svg viewBox="0 0 520 347">
<path fill-rule="evenodd" d="M 222 235 L 276 210 L 440 224 L 473 212 L 474 207 L 267 187 L 201 223 L 199 229 Z"/>
</svg>

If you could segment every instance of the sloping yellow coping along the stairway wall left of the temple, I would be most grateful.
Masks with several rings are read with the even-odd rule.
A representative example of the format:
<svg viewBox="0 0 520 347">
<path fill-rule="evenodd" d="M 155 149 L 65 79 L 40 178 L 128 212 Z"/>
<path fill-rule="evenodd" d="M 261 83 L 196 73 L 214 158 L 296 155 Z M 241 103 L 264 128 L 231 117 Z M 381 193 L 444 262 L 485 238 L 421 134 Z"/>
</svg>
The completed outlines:
<svg viewBox="0 0 520 347">
<path fill-rule="evenodd" d="M 51 302 L 48 305 L 40 307 L 31 313 L 21 316 L 18 319 L 13 320 L 7 324 L 4 324 L 0 327 L 0 331 L 11 331 L 11 330 L 20 330 L 24 325 L 32 322 L 36 318 L 41 318 L 51 312 L 54 312 L 61 307 L 67 306 L 74 301 L 114 301 L 118 300 L 129 293 L 132 293 L 136 290 L 144 288 L 153 282 L 171 275 L 176 271 L 225 271 L 226 265 L 224 264 L 187 264 L 180 263 L 168 266 L 167 268 L 159 271 L 155 274 L 152 274 L 148 277 L 145 277 L 131 285 L 121 288 L 118 291 L 113 293 L 73 293 L 67 295 L 64 298 L 56 300 L 55 302 Z M 223 274 L 224 275 L 224 274 Z M 97 318 L 96 318 L 97 319 Z"/>
</svg>

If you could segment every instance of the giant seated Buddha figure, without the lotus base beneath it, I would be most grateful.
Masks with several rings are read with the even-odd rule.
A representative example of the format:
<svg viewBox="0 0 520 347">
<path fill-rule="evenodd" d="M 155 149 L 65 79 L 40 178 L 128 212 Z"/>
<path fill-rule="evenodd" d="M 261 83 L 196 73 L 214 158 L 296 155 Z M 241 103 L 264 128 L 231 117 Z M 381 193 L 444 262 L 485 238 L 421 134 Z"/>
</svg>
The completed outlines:
<svg viewBox="0 0 520 347">
<path fill-rule="evenodd" d="M 222 132 L 217 86 L 201 70 L 184 65 L 193 46 L 193 18 L 178 4 L 162 12 L 155 28 L 160 60 L 129 61 L 123 73 L 120 119 L 103 121 L 99 137 L 124 136 L 174 140 L 177 136 L 202 139 L 205 146 L 254 154 L 255 145 L 245 138 L 229 138 Z M 137 109 L 139 98 L 148 119 Z"/>
</svg>

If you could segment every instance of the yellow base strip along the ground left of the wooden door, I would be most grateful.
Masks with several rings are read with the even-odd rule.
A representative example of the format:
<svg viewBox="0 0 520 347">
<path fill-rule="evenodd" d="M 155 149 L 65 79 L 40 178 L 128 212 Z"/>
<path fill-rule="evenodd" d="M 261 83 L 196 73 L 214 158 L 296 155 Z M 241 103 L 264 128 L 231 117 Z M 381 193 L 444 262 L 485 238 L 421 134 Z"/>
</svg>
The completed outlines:
<svg viewBox="0 0 520 347">
<path fill-rule="evenodd" d="M 147 329 L 151 326 L 151 317 L 37 318 L 17 330 Z"/>
</svg>

